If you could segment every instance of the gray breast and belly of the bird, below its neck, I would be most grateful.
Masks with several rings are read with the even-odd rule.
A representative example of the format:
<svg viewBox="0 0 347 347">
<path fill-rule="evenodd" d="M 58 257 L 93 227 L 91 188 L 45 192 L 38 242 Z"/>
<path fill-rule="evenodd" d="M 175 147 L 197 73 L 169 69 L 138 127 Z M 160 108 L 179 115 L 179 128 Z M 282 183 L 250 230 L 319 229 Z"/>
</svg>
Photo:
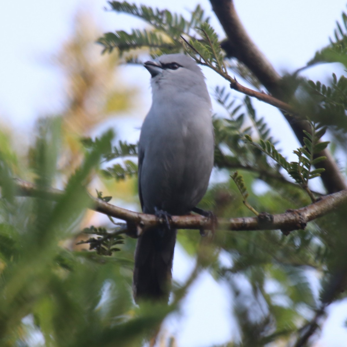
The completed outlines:
<svg viewBox="0 0 347 347">
<path fill-rule="evenodd" d="M 139 189 L 146 213 L 186 214 L 206 192 L 214 147 L 210 104 L 185 105 L 152 105 L 143 123 Z"/>
</svg>

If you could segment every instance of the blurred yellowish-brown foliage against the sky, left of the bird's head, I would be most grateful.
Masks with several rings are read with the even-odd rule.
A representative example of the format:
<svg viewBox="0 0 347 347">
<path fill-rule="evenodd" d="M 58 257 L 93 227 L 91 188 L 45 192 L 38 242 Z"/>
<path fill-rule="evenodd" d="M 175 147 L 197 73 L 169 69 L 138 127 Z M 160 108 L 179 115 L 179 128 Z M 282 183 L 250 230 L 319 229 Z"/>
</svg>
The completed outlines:
<svg viewBox="0 0 347 347">
<path fill-rule="evenodd" d="M 95 37 L 100 35 L 91 14 L 76 15 L 74 32 L 52 62 L 66 76 L 63 119 L 64 155 L 60 168 L 73 172 L 81 159 L 81 136 L 87 136 L 106 120 L 133 108 L 136 90 L 127 86 L 117 73 L 117 55 L 100 55 Z"/>
</svg>

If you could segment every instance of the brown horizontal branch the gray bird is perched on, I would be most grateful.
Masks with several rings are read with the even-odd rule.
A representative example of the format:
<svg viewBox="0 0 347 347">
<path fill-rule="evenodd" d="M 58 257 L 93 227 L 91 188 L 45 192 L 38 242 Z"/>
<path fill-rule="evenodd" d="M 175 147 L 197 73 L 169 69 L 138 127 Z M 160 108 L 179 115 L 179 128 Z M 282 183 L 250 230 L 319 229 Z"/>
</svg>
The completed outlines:
<svg viewBox="0 0 347 347">
<path fill-rule="evenodd" d="M 16 180 L 17 195 L 19 196 L 39 196 L 49 200 L 59 200 L 64 191 L 59 189 L 39 189 L 36 185 L 22 180 Z M 98 198 L 92 197 L 92 207 L 111 217 L 125 220 L 138 226 L 138 234 L 143 230 L 154 227 L 160 223 L 155 215 L 138 213 L 122 209 Z M 260 217 L 244 218 L 218 218 L 217 225 L 219 229 L 224 230 L 274 230 L 281 229 L 283 232 L 289 232 L 296 229 L 304 229 L 307 222 L 312 221 L 324 214 L 333 211 L 335 208 L 347 202 L 347 189 L 326 195 L 319 201 L 297 210 L 288 210 L 285 213 L 269 215 L 261 214 Z M 264 218 L 264 216 L 266 218 Z M 263 218 L 261 218 L 263 217 Z M 177 229 L 211 229 L 214 221 L 200 215 L 172 216 L 171 226 Z"/>
</svg>

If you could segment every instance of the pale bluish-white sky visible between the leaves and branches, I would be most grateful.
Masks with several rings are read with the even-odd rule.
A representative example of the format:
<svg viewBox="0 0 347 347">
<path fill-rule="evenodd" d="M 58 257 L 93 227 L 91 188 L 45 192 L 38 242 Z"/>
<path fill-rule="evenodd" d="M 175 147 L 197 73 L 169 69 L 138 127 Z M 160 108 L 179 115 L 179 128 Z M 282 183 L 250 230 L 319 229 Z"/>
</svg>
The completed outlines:
<svg viewBox="0 0 347 347">
<path fill-rule="evenodd" d="M 144 0 L 146 5 L 163 8 L 160 0 Z M 138 3 L 138 1 L 136 1 Z M 167 2 L 166 8 L 184 13 L 192 10 L 197 1 L 175 0 Z M 223 32 L 211 12 L 207 0 L 200 1 L 210 12 L 211 23 L 223 37 Z M 235 0 L 238 14 L 254 42 L 272 62 L 279 73 L 292 72 L 302 67 L 314 56 L 314 52 L 328 44 L 333 35 L 336 20 L 346 10 L 344 0 Z M 3 1 L 0 11 L 0 117 L 11 126 L 29 136 L 34 120 L 46 113 L 59 111 L 64 92 L 61 72 L 48 63 L 73 30 L 77 9 L 90 9 L 104 31 L 129 30 L 143 27 L 139 20 L 115 12 L 105 12 L 105 0 L 59 0 L 59 1 Z M 305 76 L 321 81 L 331 76 L 328 65 L 311 68 Z M 342 70 L 341 70 L 342 71 Z M 214 73 L 204 69 L 209 90 L 222 83 Z M 150 107 L 148 72 L 140 67 L 122 68 L 124 79 L 141 89 L 143 112 L 122 121 L 117 118 L 118 134 L 128 141 L 136 141 L 142 119 Z M 280 134 L 283 153 L 290 155 L 297 146 L 283 117 L 273 107 L 254 101 L 259 115 L 264 115 L 273 129 Z M 174 278 L 184 280 L 189 275 L 193 261 L 181 247 L 176 247 Z M 204 347 L 227 341 L 232 334 L 232 322 L 228 317 L 230 298 L 228 291 L 205 273 L 195 283 L 186 299 L 186 310 L 178 321 L 168 321 L 168 329 L 178 337 L 179 347 Z M 225 299 L 227 298 L 227 299 Z M 342 329 L 347 319 L 346 302 L 331 305 L 330 318 L 323 328 L 319 346 L 345 347 L 347 332 Z"/>
</svg>

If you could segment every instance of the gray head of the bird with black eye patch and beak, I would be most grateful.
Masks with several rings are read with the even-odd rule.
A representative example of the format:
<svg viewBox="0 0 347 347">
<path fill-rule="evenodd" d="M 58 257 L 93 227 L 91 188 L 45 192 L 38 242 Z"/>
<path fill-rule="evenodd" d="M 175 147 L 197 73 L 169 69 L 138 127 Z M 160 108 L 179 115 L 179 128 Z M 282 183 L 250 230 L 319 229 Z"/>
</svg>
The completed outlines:
<svg viewBox="0 0 347 347">
<path fill-rule="evenodd" d="M 181 53 L 164 54 L 155 61 L 146 61 L 144 66 L 152 75 L 153 95 L 170 90 L 176 93 L 190 91 L 208 97 L 204 75 L 191 57 Z"/>
</svg>

